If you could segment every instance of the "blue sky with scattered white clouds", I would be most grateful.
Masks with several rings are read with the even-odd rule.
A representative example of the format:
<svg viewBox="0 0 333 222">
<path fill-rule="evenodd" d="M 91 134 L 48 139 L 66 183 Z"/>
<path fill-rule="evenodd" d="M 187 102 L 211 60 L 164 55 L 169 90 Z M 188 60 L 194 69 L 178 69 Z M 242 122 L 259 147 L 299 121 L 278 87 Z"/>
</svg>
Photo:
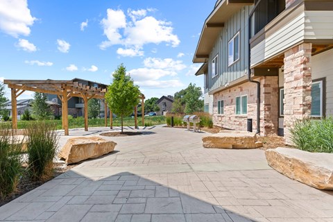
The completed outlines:
<svg viewBox="0 0 333 222">
<path fill-rule="evenodd" d="M 0 80 L 110 84 L 123 63 L 146 98 L 202 87 L 191 60 L 215 2 L 1 0 Z"/>
</svg>

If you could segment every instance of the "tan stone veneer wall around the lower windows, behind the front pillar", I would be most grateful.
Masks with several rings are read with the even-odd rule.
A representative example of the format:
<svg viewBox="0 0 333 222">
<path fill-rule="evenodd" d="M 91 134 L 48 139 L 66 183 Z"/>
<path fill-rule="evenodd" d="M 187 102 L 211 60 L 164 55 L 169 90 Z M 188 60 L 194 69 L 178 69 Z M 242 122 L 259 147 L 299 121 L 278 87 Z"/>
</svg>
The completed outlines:
<svg viewBox="0 0 333 222">
<path fill-rule="evenodd" d="M 278 76 L 265 76 L 260 80 L 260 133 L 278 133 Z M 236 97 L 248 96 L 248 114 L 237 115 Z M 224 114 L 217 114 L 217 102 L 223 100 Z M 247 130 L 247 119 L 253 119 L 253 132 L 257 130 L 257 85 L 243 83 L 214 94 L 213 122 L 232 130 Z"/>
</svg>

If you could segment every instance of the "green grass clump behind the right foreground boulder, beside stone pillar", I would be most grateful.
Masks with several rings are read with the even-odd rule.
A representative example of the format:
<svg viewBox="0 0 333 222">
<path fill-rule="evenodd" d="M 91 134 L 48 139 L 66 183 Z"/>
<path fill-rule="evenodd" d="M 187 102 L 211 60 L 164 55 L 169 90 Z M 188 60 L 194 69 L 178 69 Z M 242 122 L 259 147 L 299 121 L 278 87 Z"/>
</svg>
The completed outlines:
<svg viewBox="0 0 333 222">
<path fill-rule="evenodd" d="M 333 153 L 333 118 L 296 121 L 291 140 L 302 151 Z"/>
</svg>

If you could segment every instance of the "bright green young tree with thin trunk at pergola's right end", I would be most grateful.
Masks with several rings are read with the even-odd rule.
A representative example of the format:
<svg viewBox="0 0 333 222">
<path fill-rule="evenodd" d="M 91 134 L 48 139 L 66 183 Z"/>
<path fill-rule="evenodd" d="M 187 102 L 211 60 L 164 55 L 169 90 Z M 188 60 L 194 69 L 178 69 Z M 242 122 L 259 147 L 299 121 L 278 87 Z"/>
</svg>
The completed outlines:
<svg viewBox="0 0 333 222">
<path fill-rule="evenodd" d="M 122 63 L 112 76 L 113 82 L 108 86 L 105 100 L 112 112 L 121 117 L 121 133 L 123 133 L 123 117 L 129 116 L 133 108 L 139 104 L 140 91 L 130 76 L 126 75 L 126 67 Z"/>
</svg>

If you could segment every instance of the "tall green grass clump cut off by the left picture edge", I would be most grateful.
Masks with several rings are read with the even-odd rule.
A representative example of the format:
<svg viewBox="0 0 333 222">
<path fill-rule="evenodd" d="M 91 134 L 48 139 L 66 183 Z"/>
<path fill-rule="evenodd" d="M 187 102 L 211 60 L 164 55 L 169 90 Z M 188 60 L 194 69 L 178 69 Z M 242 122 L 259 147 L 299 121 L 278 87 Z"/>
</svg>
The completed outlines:
<svg viewBox="0 0 333 222">
<path fill-rule="evenodd" d="M 17 188 L 22 173 L 22 142 L 8 123 L 0 123 L 0 197 L 6 198 Z"/>
</svg>

